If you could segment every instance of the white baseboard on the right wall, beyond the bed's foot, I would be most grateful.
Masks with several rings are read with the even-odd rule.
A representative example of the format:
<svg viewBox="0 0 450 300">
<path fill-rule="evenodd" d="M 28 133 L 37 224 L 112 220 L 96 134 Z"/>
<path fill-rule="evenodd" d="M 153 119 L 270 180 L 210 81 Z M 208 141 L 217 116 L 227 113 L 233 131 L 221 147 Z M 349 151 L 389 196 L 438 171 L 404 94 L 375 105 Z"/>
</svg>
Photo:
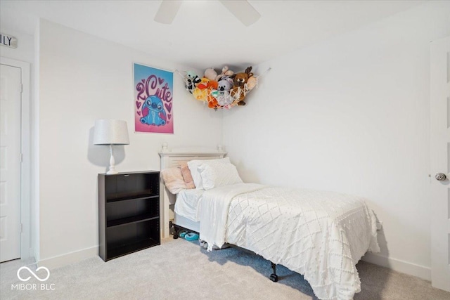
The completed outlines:
<svg viewBox="0 0 450 300">
<path fill-rule="evenodd" d="M 368 263 L 375 263 L 375 265 L 378 266 L 390 268 L 400 273 L 413 275 L 418 278 L 431 281 L 431 268 L 428 267 L 419 266 L 407 261 L 401 261 L 399 259 L 391 259 L 390 257 L 375 253 L 366 253 L 366 255 L 364 255 L 361 259 L 363 261 L 367 261 Z"/>
</svg>

